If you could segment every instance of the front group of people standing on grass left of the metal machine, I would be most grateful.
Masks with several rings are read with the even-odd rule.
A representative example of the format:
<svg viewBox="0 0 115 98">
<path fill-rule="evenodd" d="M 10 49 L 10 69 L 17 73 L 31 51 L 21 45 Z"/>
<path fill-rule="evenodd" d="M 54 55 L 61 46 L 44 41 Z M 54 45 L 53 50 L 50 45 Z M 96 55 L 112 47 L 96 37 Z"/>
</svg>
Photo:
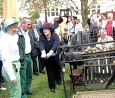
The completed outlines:
<svg viewBox="0 0 115 98">
<path fill-rule="evenodd" d="M 45 74 L 51 92 L 61 85 L 61 67 L 58 54 L 59 36 L 51 23 L 38 27 L 36 19 L 4 20 L 0 36 L 1 76 L 8 84 L 10 98 L 27 98 L 32 75 Z M 32 69 L 33 68 L 33 69 Z M 2 81 L 2 80 L 1 80 Z M 6 90 L 1 86 L 1 90 Z"/>
</svg>

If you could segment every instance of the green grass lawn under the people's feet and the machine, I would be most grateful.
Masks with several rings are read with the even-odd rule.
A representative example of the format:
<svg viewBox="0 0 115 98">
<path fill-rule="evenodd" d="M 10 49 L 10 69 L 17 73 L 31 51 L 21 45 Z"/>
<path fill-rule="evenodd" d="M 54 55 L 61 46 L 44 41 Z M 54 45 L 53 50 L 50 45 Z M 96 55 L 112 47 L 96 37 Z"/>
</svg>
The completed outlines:
<svg viewBox="0 0 115 98">
<path fill-rule="evenodd" d="M 69 71 L 69 66 L 68 64 L 66 64 L 66 73 L 64 74 L 64 79 L 65 79 L 67 95 L 69 95 L 70 85 L 71 85 L 71 80 L 68 75 L 68 71 Z M 2 85 L 7 87 L 6 83 L 3 83 Z M 30 89 L 34 92 L 34 95 L 28 96 L 28 98 L 65 98 L 63 85 L 60 86 L 56 85 L 55 93 L 50 92 L 48 88 L 46 74 L 45 75 L 40 74 L 39 76 L 33 75 L 32 86 Z M 70 93 L 70 97 L 68 98 L 72 98 L 73 94 L 76 94 L 76 92 L 78 91 L 84 91 L 84 90 L 85 89 L 83 86 L 75 86 L 74 93 Z M 8 89 L 6 91 L 0 91 L 0 98 L 9 98 Z"/>
</svg>

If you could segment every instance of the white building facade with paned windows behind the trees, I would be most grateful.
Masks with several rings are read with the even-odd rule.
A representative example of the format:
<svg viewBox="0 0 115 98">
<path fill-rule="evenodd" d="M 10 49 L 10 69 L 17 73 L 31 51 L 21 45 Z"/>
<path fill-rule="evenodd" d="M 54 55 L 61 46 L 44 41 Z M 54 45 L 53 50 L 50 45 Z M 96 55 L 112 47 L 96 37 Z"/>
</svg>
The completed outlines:
<svg viewBox="0 0 115 98">
<path fill-rule="evenodd" d="M 63 4 L 61 6 L 50 7 L 48 9 L 48 11 L 47 11 L 48 22 L 53 22 L 55 17 L 60 16 L 60 9 L 67 9 L 67 8 L 70 8 L 70 6 L 73 7 L 73 9 L 71 9 L 72 16 L 77 16 L 80 20 L 82 20 L 82 18 L 81 18 L 81 2 L 80 2 L 81 0 L 73 0 L 73 1 L 78 8 L 77 14 L 74 12 L 74 9 L 76 8 L 75 5 L 71 2 L 71 0 L 68 0 L 68 2 L 65 2 L 65 4 Z M 95 2 L 92 3 L 92 1 L 95 1 Z M 89 4 L 89 10 L 90 10 L 89 15 L 92 15 L 93 13 L 98 14 L 98 13 L 104 13 L 106 11 L 115 11 L 115 0 L 88 0 L 88 4 Z M 40 14 L 39 19 L 42 20 L 43 22 L 45 21 L 44 12 L 42 12 Z"/>
</svg>

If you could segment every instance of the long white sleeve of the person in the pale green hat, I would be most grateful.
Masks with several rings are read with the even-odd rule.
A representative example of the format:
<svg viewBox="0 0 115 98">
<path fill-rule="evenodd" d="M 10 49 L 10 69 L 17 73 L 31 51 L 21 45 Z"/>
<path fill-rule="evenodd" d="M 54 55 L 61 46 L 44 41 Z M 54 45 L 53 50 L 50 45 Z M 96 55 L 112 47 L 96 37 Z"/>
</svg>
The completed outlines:
<svg viewBox="0 0 115 98">
<path fill-rule="evenodd" d="M 3 45 L 4 44 L 4 45 Z M 10 80 L 15 80 L 15 74 L 12 66 L 12 61 L 11 61 L 11 56 L 10 56 L 10 50 L 9 50 L 9 45 L 7 43 L 2 43 L 2 49 L 1 49 L 1 54 L 2 54 L 2 62 L 3 62 L 3 67 L 6 70 Z"/>
</svg>

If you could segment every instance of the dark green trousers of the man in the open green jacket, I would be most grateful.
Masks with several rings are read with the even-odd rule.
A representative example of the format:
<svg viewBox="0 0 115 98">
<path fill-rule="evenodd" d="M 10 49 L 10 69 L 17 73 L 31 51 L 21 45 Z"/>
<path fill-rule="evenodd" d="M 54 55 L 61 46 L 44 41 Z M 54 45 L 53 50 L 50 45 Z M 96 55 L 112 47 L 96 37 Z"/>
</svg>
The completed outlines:
<svg viewBox="0 0 115 98">
<path fill-rule="evenodd" d="M 30 90 L 32 83 L 32 66 L 30 54 L 25 55 L 25 60 L 21 61 L 20 77 L 21 77 L 21 98 L 27 98 L 26 92 Z"/>
</svg>

